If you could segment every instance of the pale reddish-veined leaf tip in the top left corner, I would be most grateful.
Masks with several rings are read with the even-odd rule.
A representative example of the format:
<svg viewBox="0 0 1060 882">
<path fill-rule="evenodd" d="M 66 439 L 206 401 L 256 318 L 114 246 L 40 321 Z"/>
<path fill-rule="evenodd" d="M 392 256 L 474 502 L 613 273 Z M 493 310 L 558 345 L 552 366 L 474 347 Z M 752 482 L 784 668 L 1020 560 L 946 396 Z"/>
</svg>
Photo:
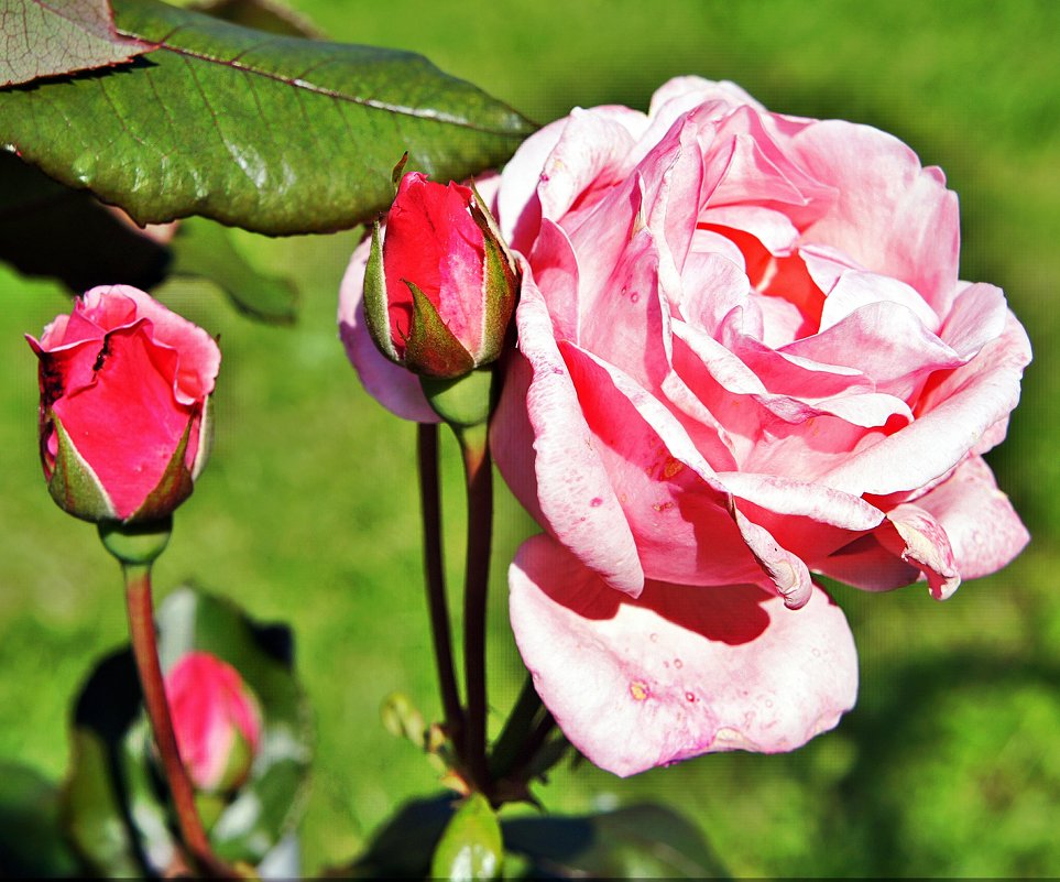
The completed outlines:
<svg viewBox="0 0 1060 882">
<path fill-rule="evenodd" d="M 107 0 L 0 0 L 0 86 L 128 62 L 152 46 L 121 36 Z"/>
</svg>

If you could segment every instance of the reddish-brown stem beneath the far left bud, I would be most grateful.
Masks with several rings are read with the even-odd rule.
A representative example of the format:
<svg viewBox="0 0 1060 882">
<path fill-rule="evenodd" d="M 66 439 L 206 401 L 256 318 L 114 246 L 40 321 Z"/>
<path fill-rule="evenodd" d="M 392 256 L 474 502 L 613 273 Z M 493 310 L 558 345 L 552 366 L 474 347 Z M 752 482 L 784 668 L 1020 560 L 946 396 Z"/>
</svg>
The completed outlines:
<svg viewBox="0 0 1060 882">
<path fill-rule="evenodd" d="M 221 863 L 210 850 L 209 840 L 203 829 L 198 810 L 195 808 L 195 791 L 188 778 L 176 736 L 170 717 L 170 704 L 165 697 L 162 679 L 162 665 L 159 663 L 159 646 L 154 632 L 154 605 L 151 600 L 151 565 L 123 564 L 125 576 L 125 606 L 129 612 L 129 633 L 132 636 L 132 654 L 136 661 L 136 673 L 143 689 L 143 703 L 151 720 L 165 778 L 173 795 L 177 823 L 184 842 L 192 850 L 196 862 L 211 876 L 238 879 L 232 870 Z"/>
</svg>

